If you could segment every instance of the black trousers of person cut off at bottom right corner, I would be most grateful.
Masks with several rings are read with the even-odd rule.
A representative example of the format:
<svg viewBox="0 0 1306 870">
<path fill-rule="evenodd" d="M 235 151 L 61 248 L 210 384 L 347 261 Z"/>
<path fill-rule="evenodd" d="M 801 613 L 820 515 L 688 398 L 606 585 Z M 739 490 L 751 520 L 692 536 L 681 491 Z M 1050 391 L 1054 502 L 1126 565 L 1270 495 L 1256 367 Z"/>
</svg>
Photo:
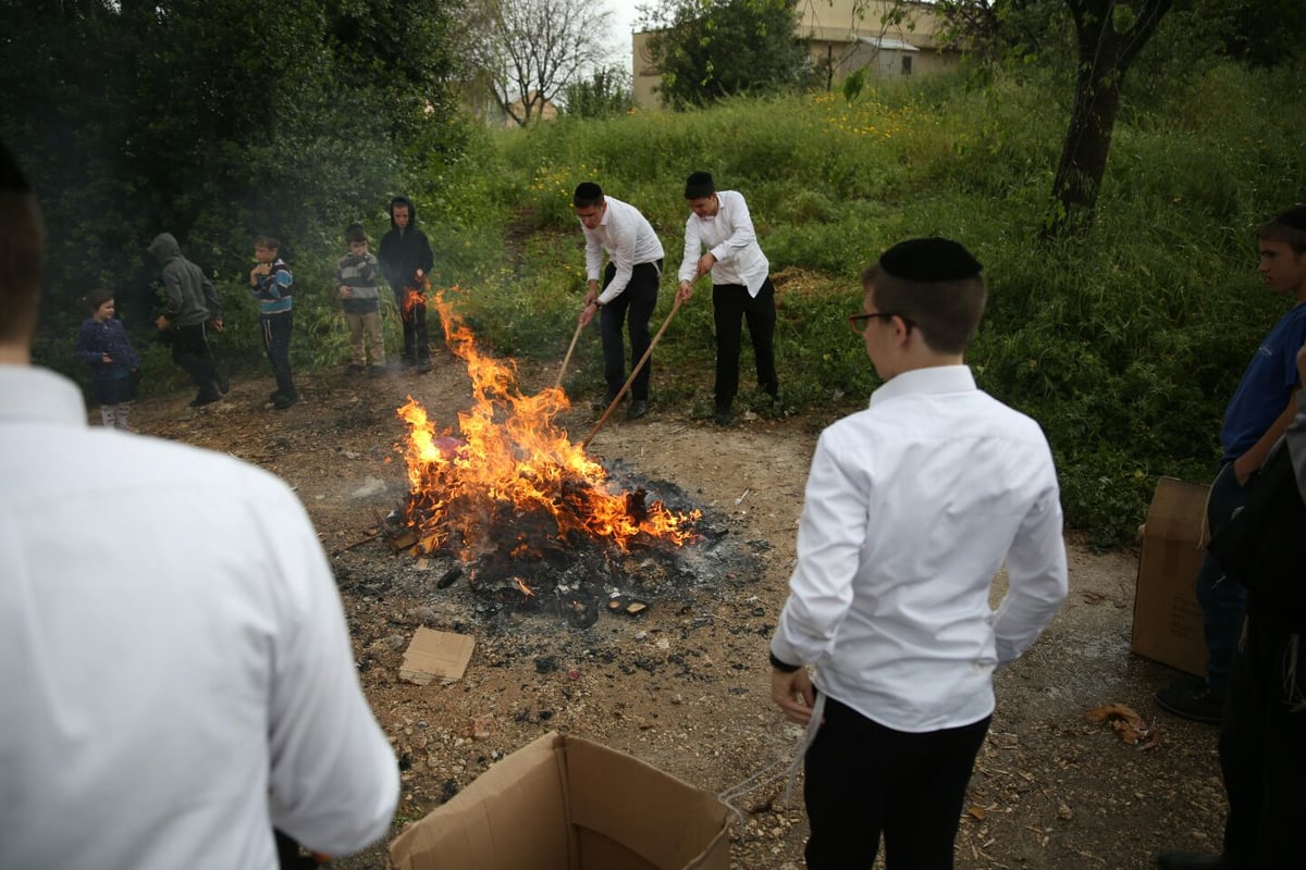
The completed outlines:
<svg viewBox="0 0 1306 870">
<path fill-rule="evenodd" d="M 1238 870 L 1301 866 L 1306 850 L 1301 638 L 1249 616 L 1233 657 L 1220 728 L 1220 772 L 1229 797 L 1224 853 Z"/>
</svg>

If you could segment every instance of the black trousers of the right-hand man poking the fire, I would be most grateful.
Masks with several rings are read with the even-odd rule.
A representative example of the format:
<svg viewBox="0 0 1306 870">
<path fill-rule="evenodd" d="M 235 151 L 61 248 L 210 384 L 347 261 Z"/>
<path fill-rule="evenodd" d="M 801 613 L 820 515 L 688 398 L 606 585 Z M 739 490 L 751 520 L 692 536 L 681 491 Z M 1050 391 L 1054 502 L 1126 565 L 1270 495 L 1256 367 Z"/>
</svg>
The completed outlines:
<svg viewBox="0 0 1306 870">
<path fill-rule="evenodd" d="M 712 320 L 717 329 L 718 408 L 729 408 L 739 391 L 739 346 L 743 323 L 748 323 L 752 359 L 757 367 L 757 387 L 771 395 L 780 393 L 776 376 L 776 286 L 767 283 L 756 299 L 743 284 L 712 284 Z"/>
</svg>

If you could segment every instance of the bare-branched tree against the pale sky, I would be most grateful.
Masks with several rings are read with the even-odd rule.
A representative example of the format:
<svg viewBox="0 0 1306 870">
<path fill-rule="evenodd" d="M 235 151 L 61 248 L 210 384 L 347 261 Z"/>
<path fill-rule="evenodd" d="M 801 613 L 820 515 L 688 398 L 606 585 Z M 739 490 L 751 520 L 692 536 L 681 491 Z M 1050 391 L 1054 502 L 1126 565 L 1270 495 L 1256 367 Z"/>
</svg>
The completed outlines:
<svg viewBox="0 0 1306 870">
<path fill-rule="evenodd" d="M 611 18 L 599 0 L 474 0 L 469 72 L 525 127 L 602 59 Z"/>
</svg>

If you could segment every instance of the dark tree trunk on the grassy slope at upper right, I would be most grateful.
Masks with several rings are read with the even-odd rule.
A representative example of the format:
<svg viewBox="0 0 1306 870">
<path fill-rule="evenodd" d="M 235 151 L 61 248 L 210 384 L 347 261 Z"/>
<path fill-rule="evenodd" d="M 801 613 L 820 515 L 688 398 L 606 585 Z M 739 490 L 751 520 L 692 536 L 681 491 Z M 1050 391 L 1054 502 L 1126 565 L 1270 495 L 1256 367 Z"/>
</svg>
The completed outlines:
<svg viewBox="0 0 1306 870">
<path fill-rule="evenodd" d="M 1055 239 L 1092 226 L 1121 108 L 1124 73 L 1171 1 L 1139 0 L 1136 8 L 1118 9 L 1115 0 L 1066 0 L 1079 42 L 1079 76 L 1075 108 L 1053 180 L 1053 211 L 1045 237 Z M 1131 14 L 1118 16 L 1118 12 Z"/>
</svg>

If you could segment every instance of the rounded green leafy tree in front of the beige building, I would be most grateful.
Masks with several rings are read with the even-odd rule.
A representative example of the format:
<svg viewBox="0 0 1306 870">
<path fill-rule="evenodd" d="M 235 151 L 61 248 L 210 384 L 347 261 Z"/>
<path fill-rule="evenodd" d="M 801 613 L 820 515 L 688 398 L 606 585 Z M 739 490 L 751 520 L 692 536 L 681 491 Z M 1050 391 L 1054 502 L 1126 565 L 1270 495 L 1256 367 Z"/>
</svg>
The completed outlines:
<svg viewBox="0 0 1306 870">
<path fill-rule="evenodd" d="M 797 35 L 798 0 L 665 0 L 645 16 L 661 27 L 648 50 L 662 70 L 658 90 L 673 108 L 811 81 L 811 55 Z"/>
</svg>

